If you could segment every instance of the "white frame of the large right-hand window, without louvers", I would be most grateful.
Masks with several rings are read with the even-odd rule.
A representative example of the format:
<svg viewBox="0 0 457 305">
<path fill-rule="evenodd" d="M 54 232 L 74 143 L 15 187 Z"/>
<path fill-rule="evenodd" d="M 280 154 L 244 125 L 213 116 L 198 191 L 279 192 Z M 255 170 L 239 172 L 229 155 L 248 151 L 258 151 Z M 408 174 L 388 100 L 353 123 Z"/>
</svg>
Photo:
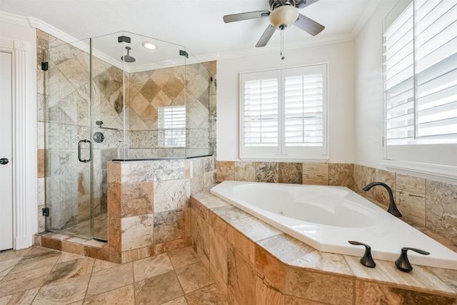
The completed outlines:
<svg viewBox="0 0 457 305">
<path fill-rule="evenodd" d="M 423 2 L 423 0 L 421 0 Z M 416 0 L 411 1 L 413 7 L 413 19 L 416 18 Z M 405 9 L 405 10 L 403 10 Z M 410 8 L 411 9 L 411 8 Z M 455 8 L 454 8 L 455 9 Z M 393 14 L 401 16 L 406 8 L 396 7 L 393 9 L 396 11 Z M 399 18 L 400 19 L 400 18 Z M 396 20 L 399 20 L 395 18 Z M 393 20 L 393 19 L 392 19 Z M 393 22 L 395 22 L 393 21 Z M 393 22 L 391 24 L 393 24 Z M 391 24 L 383 25 L 384 29 L 388 29 Z M 416 20 L 413 21 L 413 99 L 414 99 L 414 120 L 413 125 L 413 138 L 406 140 L 407 143 L 401 143 L 398 140 L 397 144 L 389 144 L 386 134 L 386 101 L 383 102 L 383 166 L 387 169 L 402 173 L 412 174 L 414 176 L 421 176 L 426 179 L 433 179 L 438 181 L 444 181 L 446 183 L 457 184 L 457 139 L 446 139 L 440 141 L 436 139 L 418 139 L 418 121 L 416 120 L 418 111 L 418 59 L 416 58 L 416 52 L 418 50 L 417 43 L 417 31 L 416 31 Z M 383 32 L 385 32 L 384 30 Z M 388 31 L 388 30 L 387 30 Z M 384 50 L 385 51 L 385 50 Z M 384 52 L 383 52 L 384 53 Z M 385 57 L 383 58 L 383 62 Z M 385 69 L 385 66 L 384 66 Z M 386 77 L 386 75 L 384 76 Z M 384 78 L 384 81 L 386 79 Z M 386 89 L 386 83 L 383 84 Z M 386 96 L 384 96 L 386 100 Z M 410 132 L 411 134 L 411 132 Z M 403 140 L 405 141 L 405 140 Z"/>
</svg>

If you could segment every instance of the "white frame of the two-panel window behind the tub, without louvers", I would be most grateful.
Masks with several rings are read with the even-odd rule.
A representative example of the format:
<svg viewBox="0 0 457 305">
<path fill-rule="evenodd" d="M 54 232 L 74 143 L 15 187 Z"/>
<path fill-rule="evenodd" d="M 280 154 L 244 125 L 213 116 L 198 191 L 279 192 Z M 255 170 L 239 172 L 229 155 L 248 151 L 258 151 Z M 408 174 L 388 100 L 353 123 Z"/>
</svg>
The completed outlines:
<svg viewBox="0 0 457 305">
<path fill-rule="evenodd" d="M 287 76 L 322 75 L 322 146 L 286 146 L 284 140 L 285 79 Z M 278 79 L 278 145 L 249 147 L 244 145 L 244 82 Z M 313 64 L 283 69 L 242 72 L 240 74 L 239 139 L 240 159 L 256 161 L 328 161 L 328 64 Z"/>
</svg>

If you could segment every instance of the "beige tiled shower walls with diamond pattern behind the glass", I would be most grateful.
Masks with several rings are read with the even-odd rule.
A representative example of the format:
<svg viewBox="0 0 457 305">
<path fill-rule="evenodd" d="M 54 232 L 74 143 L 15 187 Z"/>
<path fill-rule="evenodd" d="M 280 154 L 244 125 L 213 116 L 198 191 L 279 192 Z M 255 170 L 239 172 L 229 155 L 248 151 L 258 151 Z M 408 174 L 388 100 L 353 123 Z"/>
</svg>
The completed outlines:
<svg viewBox="0 0 457 305">
<path fill-rule="evenodd" d="M 53 48 L 54 46 L 59 46 Z M 41 71 L 51 53 L 48 72 Z M 188 144 L 192 156 L 210 154 L 216 146 L 216 62 L 124 74 L 126 111 L 124 114 L 123 71 L 100 59 L 93 59 L 94 132 L 101 131 L 104 142 L 93 143 L 94 216 L 106 213 L 107 164 L 112 159 L 186 156 L 184 149 L 159 149 L 157 108 L 184 105 L 186 90 Z M 49 93 L 44 102 L 44 78 Z M 77 161 L 79 139 L 89 139 L 89 54 L 54 36 L 37 30 L 37 106 L 39 165 L 39 227 L 45 230 L 41 209 L 51 206 L 52 227 L 64 229 L 90 216 L 90 167 Z M 59 102 L 59 104 L 57 104 Z M 126 135 L 124 138 L 124 116 Z M 54 121 L 66 124 L 54 124 Z M 102 127 L 95 121 L 103 121 Z M 45 123 L 46 122 L 46 123 Z M 64 126 L 64 127 L 62 127 Z M 152 129 L 152 130 L 151 130 Z M 46 144 L 45 150 L 45 130 Z M 131 149 L 124 154 L 126 147 Z M 50 149 L 53 153 L 50 154 Z M 83 154 L 86 151 L 83 151 Z M 188 154 L 189 156 L 189 154 Z M 45 169 L 46 159 L 46 169 Z M 64 172 L 68 174 L 64 174 Z M 45 183 L 46 177 L 46 183 Z M 70 181 L 76 181 L 71 185 Z M 65 191 L 62 192 L 61 188 Z M 45 187 L 47 187 L 45 191 Z M 46 194 L 46 196 L 45 196 Z M 66 199 L 62 197 L 66 196 Z M 46 197 L 46 199 L 45 199 Z"/>
</svg>

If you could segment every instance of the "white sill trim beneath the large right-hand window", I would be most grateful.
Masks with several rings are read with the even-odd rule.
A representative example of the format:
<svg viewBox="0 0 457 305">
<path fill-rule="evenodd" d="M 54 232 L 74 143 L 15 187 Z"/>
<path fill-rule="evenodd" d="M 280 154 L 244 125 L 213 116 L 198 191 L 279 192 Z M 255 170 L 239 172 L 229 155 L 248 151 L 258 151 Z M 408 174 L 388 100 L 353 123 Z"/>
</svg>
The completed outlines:
<svg viewBox="0 0 457 305">
<path fill-rule="evenodd" d="M 399 174 L 418 176 L 457 185 L 457 167 L 437 164 L 426 164 L 409 161 L 384 160 L 381 163 L 386 169 Z"/>
</svg>

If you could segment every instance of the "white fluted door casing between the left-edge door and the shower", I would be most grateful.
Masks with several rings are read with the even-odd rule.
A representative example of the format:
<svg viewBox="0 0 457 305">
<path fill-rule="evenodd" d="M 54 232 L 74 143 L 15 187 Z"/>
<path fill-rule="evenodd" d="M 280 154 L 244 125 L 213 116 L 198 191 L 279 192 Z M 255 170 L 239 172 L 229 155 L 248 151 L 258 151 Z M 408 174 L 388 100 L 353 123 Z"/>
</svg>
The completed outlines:
<svg viewBox="0 0 457 305">
<path fill-rule="evenodd" d="M 13 226 L 14 249 L 33 244 L 37 228 L 36 76 L 29 41 L 0 38 L 0 49 L 13 55 Z"/>
</svg>

